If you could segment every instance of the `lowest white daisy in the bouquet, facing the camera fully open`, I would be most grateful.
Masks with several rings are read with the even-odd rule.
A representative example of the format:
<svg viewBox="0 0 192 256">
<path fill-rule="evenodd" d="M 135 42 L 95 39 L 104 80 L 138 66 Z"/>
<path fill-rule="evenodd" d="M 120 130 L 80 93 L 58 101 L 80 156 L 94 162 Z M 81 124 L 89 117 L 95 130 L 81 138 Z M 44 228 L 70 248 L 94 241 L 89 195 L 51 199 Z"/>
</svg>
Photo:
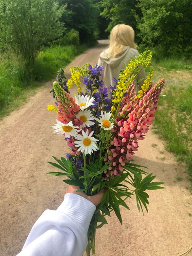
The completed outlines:
<svg viewBox="0 0 192 256">
<path fill-rule="evenodd" d="M 86 130 L 86 133 L 82 130 L 82 135 L 77 134 L 75 141 L 76 147 L 79 147 L 77 151 L 84 152 L 85 156 L 87 154 L 91 155 L 94 151 L 98 150 L 98 146 L 96 144 L 97 139 L 92 137 L 93 131 L 89 134 L 89 131 Z"/>
</svg>

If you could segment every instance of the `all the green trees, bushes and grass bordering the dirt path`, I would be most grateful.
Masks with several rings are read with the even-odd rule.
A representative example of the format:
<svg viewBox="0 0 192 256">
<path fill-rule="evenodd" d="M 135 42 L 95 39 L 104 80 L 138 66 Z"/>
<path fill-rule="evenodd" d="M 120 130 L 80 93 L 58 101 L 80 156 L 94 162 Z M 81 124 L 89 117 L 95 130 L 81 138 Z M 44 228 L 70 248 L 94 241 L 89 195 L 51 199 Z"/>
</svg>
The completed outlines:
<svg viewBox="0 0 192 256">
<path fill-rule="evenodd" d="M 191 0 L 0 0 L 0 117 L 113 26 L 128 24 L 139 52 L 153 51 L 154 77 L 167 77 L 154 132 L 192 180 L 191 13 Z"/>
</svg>

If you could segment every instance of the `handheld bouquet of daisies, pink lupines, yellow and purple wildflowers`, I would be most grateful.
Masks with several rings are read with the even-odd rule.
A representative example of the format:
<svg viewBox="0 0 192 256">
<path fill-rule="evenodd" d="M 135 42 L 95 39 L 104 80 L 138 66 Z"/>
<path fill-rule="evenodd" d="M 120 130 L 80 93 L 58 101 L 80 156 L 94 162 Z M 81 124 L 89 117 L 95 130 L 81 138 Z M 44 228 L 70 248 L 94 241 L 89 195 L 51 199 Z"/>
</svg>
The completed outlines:
<svg viewBox="0 0 192 256">
<path fill-rule="evenodd" d="M 107 224 L 106 215 L 114 211 L 122 223 L 119 205 L 129 209 L 126 199 L 135 196 L 143 212 L 149 203 L 146 190 L 162 188 L 163 182 L 155 182 L 156 176 L 144 171 L 145 166 L 132 162 L 139 141 L 145 139 L 153 123 L 164 85 L 164 79 L 160 79 L 152 86 L 151 70 L 139 94 L 135 93 L 137 75 L 149 65 L 151 57 L 151 52 L 145 51 L 131 60 L 110 89 L 100 80 L 102 66 L 88 64 L 70 67 L 68 80 L 64 70 L 59 70 L 53 83 L 51 92 L 56 102 L 48 107 L 58 115 L 53 129 L 64 136 L 70 151 L 66 158 L 53 157 L 57 163 L 49 163 L 60 171 L 49 174 L 68 177 L 65 183 L 78 186 L 87 195 L 106 190 L 88 230 L 87 255 L 91 249 L 94 254 L 96 229 Z M 73 83 L 78 87 L 74 98 L 69 91 Z"/>
</svg>

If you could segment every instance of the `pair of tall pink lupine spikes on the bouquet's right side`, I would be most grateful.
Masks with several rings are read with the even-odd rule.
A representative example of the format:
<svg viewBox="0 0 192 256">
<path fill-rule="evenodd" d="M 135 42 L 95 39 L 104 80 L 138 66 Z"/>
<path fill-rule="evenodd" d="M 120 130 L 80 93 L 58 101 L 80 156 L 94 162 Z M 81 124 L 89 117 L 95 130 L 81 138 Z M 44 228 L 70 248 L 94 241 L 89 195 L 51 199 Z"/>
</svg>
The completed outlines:
<svg viewBox="0 0 192 256">
<path fill-rule="evenodd" d="M 158 98 L 164 85 L 164 79 L 160 79 L 154 87 L 149 86 L 143 98 L 135 98 L 133 85 L 128 89 L 128 95 L 123 97 L 122 106 L 119 108 L 119 115 L 115 119 L 117 124 L 114 127 L 114 138 L 111 141 L 111 148 L 107 150 L 109 170 L 111 175 L 120 175 L 126 161 L 132 160 L 138 150 L 138 141 L 145 139 L 149 126 L 154 121 L 154 113 L 157 110 Z M 119 163 L 117 165 L 117 163 Z M 105 179 L 108 180 L 108 173 Z"/>
</svg>

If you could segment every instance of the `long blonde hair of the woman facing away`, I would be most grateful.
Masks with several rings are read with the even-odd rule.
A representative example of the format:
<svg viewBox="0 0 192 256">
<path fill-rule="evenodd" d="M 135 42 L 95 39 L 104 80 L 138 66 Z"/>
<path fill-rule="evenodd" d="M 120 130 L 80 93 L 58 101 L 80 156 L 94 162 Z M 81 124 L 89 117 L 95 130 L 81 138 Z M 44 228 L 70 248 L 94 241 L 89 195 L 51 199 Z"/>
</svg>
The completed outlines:
<svg viewBox="0 0 192 256">
<path fill-rule="evenodd" d="M 124 46 L 137 49 L 137 45 L 134 43 L 134 30 L 128 25 L 118 24 L 111 30 L 107 59 L 113 59 L 120 55 Z"/>
</svg>

